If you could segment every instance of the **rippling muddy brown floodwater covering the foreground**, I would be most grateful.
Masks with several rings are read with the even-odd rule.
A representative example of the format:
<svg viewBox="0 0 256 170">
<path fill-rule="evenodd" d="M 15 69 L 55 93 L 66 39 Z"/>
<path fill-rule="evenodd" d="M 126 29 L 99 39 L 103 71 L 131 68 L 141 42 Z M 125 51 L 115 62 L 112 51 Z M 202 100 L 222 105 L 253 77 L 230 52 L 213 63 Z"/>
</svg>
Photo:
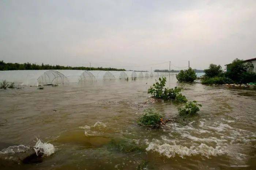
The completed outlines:
<svg viewBox="0 0 256 170">
<path fill-rule="evenodd" d="M 198 115 L 150 129 L 136 123 L 145 108 L 181 106 L 150 99 L 154 79 L 1 90 L 0 169 L 256 169 L 256 89 L 186 84 Z M 44 157 L 22 163 L 35 145 Z"/>
</svg>

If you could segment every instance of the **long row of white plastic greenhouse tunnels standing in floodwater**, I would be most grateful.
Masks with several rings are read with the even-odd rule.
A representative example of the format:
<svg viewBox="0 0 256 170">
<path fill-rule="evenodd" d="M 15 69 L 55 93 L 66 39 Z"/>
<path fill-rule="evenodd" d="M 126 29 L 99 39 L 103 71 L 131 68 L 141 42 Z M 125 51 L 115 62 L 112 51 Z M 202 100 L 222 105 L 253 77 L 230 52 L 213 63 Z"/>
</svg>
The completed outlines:
<svg viewBox="0 0 256 170">
<path fill-rule="evenodd" d="M 176 74 L 176 73 L 171 73 Z M 6 80 L 18 85 L 46 85 L 91 82 L 100 80 L 128 80 L 139 77 L 167 76 L 169 73 L 102 71 L 102 70 L 10 70 L 0 71 L 0 81 Z"/>
</svg>

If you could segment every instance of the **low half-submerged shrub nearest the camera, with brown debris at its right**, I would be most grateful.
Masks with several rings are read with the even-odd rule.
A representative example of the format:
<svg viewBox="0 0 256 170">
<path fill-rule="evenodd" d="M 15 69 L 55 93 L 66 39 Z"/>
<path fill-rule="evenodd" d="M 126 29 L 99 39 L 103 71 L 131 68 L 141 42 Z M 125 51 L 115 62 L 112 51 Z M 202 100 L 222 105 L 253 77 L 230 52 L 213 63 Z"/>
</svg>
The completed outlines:
<svg viewBox="0 0 256 170">
<path fill-rule="evenodd" d="M 144 110 L 144 114 L 139 118 L 138 124 L 156 127 L 161 123 L 161 118 L 163 118 L 163 115 L 159 114 L 155 109 L 148 108 Z"/>
</svg>

